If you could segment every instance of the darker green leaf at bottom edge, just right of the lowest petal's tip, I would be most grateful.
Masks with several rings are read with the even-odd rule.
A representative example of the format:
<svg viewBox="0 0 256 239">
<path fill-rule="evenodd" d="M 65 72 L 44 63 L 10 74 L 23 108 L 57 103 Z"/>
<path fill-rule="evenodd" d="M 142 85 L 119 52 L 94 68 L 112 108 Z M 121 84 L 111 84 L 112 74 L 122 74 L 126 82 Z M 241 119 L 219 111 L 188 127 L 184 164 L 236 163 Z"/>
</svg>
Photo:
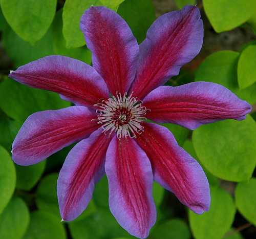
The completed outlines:
<svg viewBox="0 0 256 239">
<path fill-rule="evenodd" d="M 158 224 L 150 233 L 154 239 L 189 239 L 191 237 L 188 225 L 181 219 L 170 219 Z"/>
</svg>

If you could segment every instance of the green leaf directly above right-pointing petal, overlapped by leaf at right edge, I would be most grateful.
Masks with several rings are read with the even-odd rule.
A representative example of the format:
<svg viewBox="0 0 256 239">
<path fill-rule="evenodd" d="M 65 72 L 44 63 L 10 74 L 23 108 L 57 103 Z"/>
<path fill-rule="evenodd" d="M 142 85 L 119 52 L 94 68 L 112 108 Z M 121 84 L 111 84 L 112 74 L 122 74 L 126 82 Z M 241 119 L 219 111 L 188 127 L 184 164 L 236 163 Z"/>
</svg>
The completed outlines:
<svg viewBox="0 0 256 239">
<path fill-rule="evenodd" d="M 250 104 L 256 102 L 256 82 L 241 90 L 237 79 L 239 53 L 220 51 L 206 57 L 195 71 L 195 81 L 210 81 L 224 85 L 240 99 Z"/>
</svg>

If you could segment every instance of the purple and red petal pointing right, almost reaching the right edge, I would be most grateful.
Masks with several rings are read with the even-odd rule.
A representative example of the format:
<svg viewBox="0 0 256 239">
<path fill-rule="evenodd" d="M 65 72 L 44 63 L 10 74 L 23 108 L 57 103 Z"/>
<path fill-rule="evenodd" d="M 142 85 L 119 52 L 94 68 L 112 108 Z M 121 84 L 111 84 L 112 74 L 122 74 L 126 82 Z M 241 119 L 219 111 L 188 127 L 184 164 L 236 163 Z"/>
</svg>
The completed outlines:
<svg viewBox="0 0 256 239">
<path fill-rule="evenodd" d="M 193 82 L 159 86 L 143 100 L 150 109 L 147 118 L 157 123 L 175 123 L 189 129 L 225 119 L 244 120 L 251 105 L 222 85 Z"/>
</svg>

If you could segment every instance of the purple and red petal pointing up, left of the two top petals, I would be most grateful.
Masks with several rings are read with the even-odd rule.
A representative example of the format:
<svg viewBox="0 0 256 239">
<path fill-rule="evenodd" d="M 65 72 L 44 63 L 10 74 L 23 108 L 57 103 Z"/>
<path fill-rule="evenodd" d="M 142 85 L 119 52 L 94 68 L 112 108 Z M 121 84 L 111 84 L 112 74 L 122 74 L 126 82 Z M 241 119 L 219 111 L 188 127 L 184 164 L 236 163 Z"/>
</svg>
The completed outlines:
<svg viewBox="0 0 256 239">
<path fill-rule="evenodd" d="M 113 10 L 91 7 L 80 21 L 80 29 L 92 63 L 112 95 L 127 92 L 135 77 L 139 46 L 130 27 Z"/>
</svg>

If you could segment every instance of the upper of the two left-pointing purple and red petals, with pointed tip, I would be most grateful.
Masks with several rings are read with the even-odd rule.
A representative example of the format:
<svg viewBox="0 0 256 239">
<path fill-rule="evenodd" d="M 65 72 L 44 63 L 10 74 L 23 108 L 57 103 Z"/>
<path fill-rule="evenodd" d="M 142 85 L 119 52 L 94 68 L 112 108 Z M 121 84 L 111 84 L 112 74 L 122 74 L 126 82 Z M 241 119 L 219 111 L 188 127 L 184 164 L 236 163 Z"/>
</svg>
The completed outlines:
<svg viewBox="0 0 256 239">
<path fill-rule="evenodd" d="M 89 64 L 66 56 L 40 58 L 19 67 L 9 77 L 88 108 L 110 97 L 104 80 Z"/>
</svg>

